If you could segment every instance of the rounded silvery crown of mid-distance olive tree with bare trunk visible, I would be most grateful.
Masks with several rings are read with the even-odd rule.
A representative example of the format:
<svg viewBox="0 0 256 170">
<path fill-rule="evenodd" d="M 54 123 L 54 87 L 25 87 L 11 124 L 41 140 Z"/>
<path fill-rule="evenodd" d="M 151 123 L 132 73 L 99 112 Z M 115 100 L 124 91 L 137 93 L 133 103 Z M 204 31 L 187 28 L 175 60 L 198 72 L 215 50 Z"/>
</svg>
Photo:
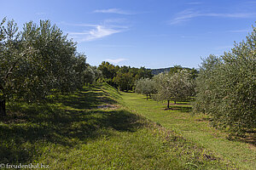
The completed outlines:
<svg viewBox="0 0 256 170">
<path fill-rule="evenodd" d="M 156 82 L 157 100 L 182 101 L 194 94 L 194 83 L 189 71 L 182 70 L 176 73 L 160 73 L 154 77 Z"/>
</svg>

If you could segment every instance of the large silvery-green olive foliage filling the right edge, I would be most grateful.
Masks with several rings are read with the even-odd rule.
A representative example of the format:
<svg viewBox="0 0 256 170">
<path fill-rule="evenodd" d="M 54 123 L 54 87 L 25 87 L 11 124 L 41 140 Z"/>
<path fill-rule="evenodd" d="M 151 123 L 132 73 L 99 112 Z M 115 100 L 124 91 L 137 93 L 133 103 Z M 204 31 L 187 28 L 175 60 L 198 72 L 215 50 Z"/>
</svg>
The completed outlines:
<svg viewBox="0 0 256 170">
<path fill-rule="evenodd" d="M 220 58 L 204 59 L 197 78 L 194 111 L 210 115 L 213 125 L 230 132 L 256 127 L 255 32 Z"/>
</svg>

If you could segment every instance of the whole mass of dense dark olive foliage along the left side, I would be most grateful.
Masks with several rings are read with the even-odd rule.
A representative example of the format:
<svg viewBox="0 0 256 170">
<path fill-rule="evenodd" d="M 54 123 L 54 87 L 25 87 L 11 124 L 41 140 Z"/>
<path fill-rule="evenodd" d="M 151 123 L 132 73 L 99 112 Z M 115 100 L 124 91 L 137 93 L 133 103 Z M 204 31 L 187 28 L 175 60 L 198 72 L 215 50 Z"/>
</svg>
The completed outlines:
<svg viewBox="0 0 256 170">
<path fill-rule="evenodd" d="M 42 102 L 54 92 L 82 88 L 87 65 L 76 43 L 49 20 L 26 23 L 18 31 L 14 20 L 0 26 L 0 113 L 5 103 Z"/>
</svg>

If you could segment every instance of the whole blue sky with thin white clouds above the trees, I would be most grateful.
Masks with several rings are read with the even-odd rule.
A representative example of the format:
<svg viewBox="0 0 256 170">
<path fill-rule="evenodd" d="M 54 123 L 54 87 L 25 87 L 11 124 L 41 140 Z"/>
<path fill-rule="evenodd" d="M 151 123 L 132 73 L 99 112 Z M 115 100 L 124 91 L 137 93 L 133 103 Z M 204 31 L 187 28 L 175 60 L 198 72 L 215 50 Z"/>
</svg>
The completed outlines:
<svg viewBox="0 0 256 170">
<path fill-rule="evenodd" d="M 241 42 L 256 21 L 254 0 L 0 0 L 0 19 L 20 29 L 51 20 L 78 42 L 90 65 L 195 67 Z"/>
</svg>

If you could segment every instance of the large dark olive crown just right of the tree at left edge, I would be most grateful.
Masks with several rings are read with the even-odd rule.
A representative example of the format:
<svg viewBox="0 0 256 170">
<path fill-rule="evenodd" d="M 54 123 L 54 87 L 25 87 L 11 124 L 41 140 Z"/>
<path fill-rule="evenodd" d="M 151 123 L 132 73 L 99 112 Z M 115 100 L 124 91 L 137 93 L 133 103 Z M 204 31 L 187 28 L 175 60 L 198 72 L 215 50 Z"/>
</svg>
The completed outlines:
<svg viewBox="0 0 256 170">
<path fill-rule="evenodd" d="M 52 89 L 71 92 L 82 87 L 82 72 L 85 70 L 84 54 L 76 53 L 76 43 L 67 40 L 67 35 L 49 20 L 40 20 L 39 26 L 26 23 L 21 32 L 24 48 L 32 48 L 30 58 L 31 74 L 23 68 L 27 75 L 24 99 L 41 100 L 49 95 Z M 23 66 L 23 65 L 22 65 Z M 33 98 L 34 99 L 33 99 Z"/>
</svg>

